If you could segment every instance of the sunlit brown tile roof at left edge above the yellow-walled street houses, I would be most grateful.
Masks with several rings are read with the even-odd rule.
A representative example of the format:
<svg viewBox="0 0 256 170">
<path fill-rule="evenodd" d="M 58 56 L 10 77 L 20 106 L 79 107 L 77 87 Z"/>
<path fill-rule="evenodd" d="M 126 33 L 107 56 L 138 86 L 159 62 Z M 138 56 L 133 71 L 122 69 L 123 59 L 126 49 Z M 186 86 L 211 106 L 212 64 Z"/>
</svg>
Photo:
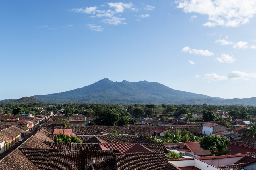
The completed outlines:
<svg viewBox="0 0 256 170">
<path fill-rule="evenodd" d="M 3 141 L 9 141 L 13 139 L 13 137 L 18 136 L 23 132 L 23 129 L 20 129 L 16 126 L 11 126 L 9 128 L 3 129 L 0 131 L 0 143 L 2 143 Z"/>
</svg>

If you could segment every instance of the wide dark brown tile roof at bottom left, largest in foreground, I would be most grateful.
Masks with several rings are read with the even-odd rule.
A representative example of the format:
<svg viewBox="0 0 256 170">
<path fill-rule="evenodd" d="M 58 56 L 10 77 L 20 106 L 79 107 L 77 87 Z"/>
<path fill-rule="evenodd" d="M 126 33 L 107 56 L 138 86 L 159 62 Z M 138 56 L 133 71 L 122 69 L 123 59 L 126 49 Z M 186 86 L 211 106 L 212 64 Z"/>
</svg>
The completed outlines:
<svg viewBox="0 0 256 170">
<path fill-rule="evenodd" d="M 117 150 L 59 150 L 20 148 L 40 170 L 115 169 Z"/>
</svg>

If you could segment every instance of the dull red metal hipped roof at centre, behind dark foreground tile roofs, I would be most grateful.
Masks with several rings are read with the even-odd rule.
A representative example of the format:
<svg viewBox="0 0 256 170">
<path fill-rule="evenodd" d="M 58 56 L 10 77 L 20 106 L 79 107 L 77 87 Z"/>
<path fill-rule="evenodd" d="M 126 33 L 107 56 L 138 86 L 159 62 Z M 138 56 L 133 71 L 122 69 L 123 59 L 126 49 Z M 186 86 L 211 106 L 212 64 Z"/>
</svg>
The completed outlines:
<svg viewBox="0 0 256 170">
<path fill-rule="evenodd" d="M 102 150 L 119 150 L 119 153 L 152 152 L 139 143 L 99 143 Z"/>
</svg>

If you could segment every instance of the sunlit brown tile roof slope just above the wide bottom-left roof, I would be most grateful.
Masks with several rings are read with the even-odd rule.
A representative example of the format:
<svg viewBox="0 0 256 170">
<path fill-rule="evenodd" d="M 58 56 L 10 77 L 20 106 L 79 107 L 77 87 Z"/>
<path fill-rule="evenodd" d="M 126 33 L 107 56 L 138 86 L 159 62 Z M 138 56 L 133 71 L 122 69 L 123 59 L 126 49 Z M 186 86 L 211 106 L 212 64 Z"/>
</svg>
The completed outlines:
<svg viewBox="0 0 256 170">
<path fill-rule="evenodd" d="M 53 142 L 49 137 L 41 131 L 37 131 L 35 135 L 31 136 L 27 141 L 20 145 L 21 148 L 39 148 L 49 149 L 44 142 Z"/>
</svg>

